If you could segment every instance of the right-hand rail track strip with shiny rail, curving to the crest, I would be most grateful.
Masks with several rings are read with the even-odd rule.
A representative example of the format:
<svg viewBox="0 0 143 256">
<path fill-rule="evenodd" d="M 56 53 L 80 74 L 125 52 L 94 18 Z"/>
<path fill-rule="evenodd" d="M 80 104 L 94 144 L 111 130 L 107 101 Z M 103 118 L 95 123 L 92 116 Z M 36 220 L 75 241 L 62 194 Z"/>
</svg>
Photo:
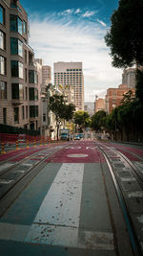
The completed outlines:
<svg viewBox="0 0 143 256">
<path fill-rule="evenodd" d="M 142 255 L 142 174 L 123 153 L 101 145 L 99 149 L 104 154 L 112 175 L 116 195 L 129 232 L 133 253 L 135 256 Z"/>
</svg>

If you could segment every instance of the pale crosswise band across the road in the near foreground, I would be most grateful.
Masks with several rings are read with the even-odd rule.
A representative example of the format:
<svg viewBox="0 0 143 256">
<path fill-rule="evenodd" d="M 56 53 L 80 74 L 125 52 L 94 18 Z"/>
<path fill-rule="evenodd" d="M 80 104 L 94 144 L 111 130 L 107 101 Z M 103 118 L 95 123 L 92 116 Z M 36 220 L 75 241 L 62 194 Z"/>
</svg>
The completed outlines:
<svg viewBox="0 0 143 256">
<path fill-rule="evenodd" d="M 31 241 L 27 234 L 31 229 Z M 52 244 L 83 249 L 113 250 L 113 235 L 111 232 L 80 231 L 78 228 L 45 224 L 18 225 L 0 222 L 0 240 L 31 242 L 35 244 Z"/>
</svg>

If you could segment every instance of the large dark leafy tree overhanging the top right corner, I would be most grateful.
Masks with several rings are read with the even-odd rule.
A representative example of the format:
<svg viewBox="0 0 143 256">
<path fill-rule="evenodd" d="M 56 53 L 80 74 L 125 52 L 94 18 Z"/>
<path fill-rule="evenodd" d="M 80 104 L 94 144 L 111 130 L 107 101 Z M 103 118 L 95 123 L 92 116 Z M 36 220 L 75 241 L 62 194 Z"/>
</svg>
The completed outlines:
<svg viewBox="0 0 143 256">
<path fill-rule="evenodd" d="M 113 12 L 112 27 L 105 36 L 111 48 L 112 65 L 128 67 L 143 64 L 143 0 L 120 0 Z"/>
</svg>

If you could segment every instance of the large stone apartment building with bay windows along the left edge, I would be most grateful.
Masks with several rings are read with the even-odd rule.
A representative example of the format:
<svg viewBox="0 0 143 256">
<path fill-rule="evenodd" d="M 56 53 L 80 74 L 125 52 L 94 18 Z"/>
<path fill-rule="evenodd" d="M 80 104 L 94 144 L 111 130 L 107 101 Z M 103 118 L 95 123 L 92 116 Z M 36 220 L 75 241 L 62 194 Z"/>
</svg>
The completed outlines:
<svg viewBox="0 0 143 256">
<path fill-rule="evenodd" d="M 0 123 L 40 128 L 40 69 L 29 46 L 27 12 L 17 0 L 0 2 Z"/>
</svg>

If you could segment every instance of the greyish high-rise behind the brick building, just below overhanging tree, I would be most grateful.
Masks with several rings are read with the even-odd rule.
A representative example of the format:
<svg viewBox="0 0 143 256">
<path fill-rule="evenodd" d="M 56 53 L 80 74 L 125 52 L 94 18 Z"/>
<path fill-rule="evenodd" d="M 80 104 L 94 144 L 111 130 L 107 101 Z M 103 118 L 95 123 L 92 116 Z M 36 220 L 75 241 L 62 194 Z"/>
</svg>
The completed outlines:
<svg viewBox="0 0 143 256">
<path fill-rule="evenodd" d="M 122 84 L 127 84 L 128 88 L 135 87 L 135 68 L 128 68 L 123 71 Z"/>
</svg>

